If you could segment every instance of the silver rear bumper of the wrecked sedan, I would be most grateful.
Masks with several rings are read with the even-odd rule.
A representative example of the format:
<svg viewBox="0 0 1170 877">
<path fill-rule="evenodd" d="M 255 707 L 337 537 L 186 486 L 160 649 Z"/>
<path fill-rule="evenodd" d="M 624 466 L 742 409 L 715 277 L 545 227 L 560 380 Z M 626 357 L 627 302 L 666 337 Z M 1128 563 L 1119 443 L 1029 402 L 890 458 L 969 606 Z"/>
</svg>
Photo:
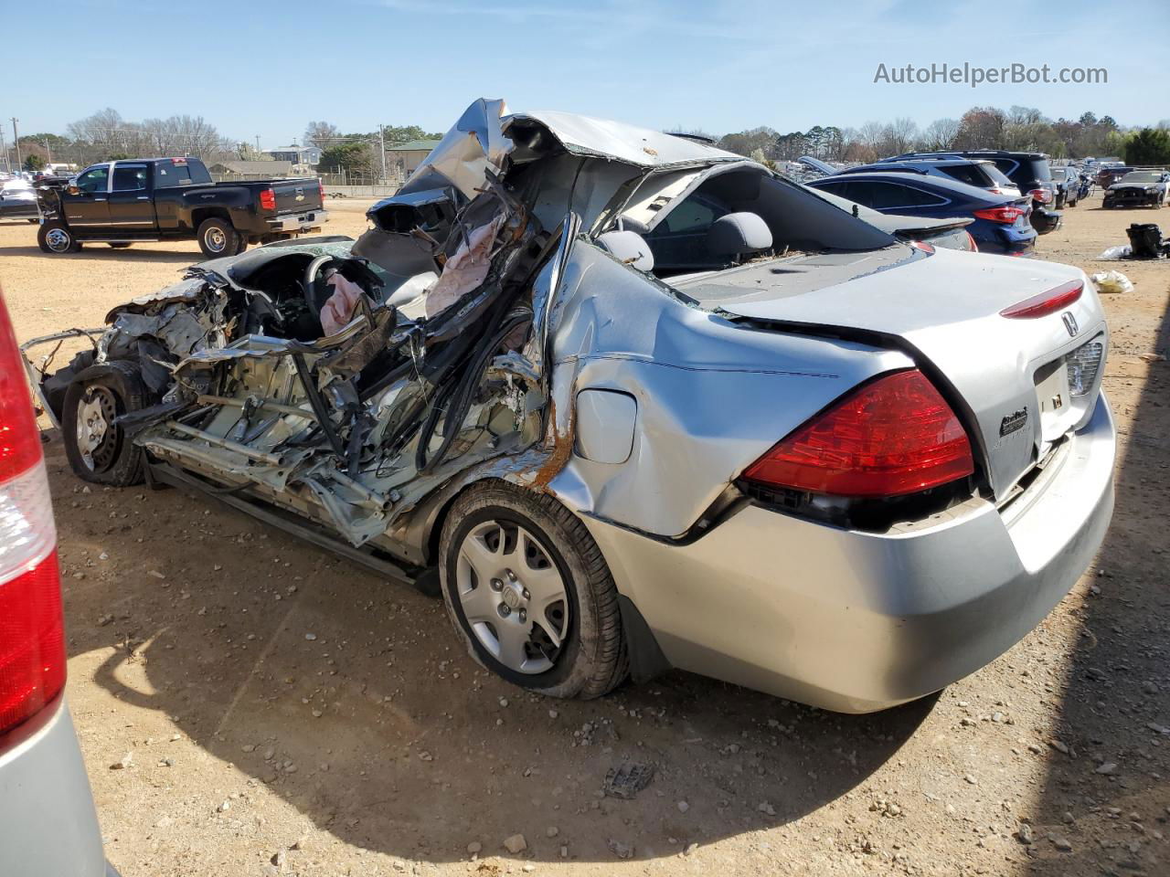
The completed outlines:
<svg viewBox="0 0 1170 877">
<path fill-rule="evenodd" d="M 978 670 L 1060 602 L 1104 539 L 1115 442 L 1102 395 L 1005 510 L 972 500 L 901 532 L 758 506 L 690 545 L 584 522 L 672 665 L 870 712 Z"/>
</svg>

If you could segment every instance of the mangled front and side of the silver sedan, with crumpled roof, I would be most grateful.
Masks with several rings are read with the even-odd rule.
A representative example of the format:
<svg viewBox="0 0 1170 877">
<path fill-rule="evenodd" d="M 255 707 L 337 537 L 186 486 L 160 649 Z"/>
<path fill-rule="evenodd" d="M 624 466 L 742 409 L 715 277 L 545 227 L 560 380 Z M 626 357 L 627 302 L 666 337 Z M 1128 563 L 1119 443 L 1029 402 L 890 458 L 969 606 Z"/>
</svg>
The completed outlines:
<svg viewBox="0 0 1170 877">
<path fill-rule="evenodd" d="M 410 512 L 443 488 L 495 476 L 550 489 L 572 455 L 585 361 L 551 359 L 574 241 L 647 174 L 724 161 L 742 159 L 477 101 L 370 209 L 359 241 L 194 265 L 112 310 L 58 384 L 131 362 L 150 405 L 118 422 L 156 464 L 283 506 L 355 546 L 400 550 Z M 58 410 L 60 398 L 47 405 Z"/>
</svg>

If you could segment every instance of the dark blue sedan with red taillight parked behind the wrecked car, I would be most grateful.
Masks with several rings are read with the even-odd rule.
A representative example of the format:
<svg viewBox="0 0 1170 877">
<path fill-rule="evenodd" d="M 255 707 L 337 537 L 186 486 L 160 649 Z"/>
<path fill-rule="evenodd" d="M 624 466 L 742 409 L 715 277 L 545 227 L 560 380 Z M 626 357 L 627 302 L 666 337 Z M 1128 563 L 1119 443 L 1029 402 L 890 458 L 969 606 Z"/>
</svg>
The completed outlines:
<svg viewBox="0 0 1170 877">
<path fill-rule="evenodd" d="M 980 253 L 1031 256 L 1035 249 L 1026 195 L 998 195 L 942 177 L 876 171 L 825 177 L 807 185 L 890 215 L 971 216 L 975 222 L 966 230 Z"/>
</svg>

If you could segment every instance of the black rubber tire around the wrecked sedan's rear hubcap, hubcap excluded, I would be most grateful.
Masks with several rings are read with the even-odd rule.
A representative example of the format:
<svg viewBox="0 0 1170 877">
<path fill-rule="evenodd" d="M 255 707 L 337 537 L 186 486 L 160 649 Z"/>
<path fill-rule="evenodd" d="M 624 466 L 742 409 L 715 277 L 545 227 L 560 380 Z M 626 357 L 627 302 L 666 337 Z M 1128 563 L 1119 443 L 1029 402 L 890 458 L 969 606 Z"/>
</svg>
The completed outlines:
<svg viewBox="0 0 1170 877">
<path fill-rule="evenodd" d="M 551 669 L 544 672 L 519 672 L 496 660 L 473 633 L 456 594 L 455 571 L 463 540 L 476 526 L 491 520 L 517 524 L 535 536 L 565 586 L 569 627 Z M 468 488 L 443 522 L 439 561 L 447 613 L 464 648 L 486 669 L 549 697 L 580 699 L 608 693 L 628 675 L 618 588 L 610 567 L 585 525 L 552 497 L 501 481 Z"/>
</svg>

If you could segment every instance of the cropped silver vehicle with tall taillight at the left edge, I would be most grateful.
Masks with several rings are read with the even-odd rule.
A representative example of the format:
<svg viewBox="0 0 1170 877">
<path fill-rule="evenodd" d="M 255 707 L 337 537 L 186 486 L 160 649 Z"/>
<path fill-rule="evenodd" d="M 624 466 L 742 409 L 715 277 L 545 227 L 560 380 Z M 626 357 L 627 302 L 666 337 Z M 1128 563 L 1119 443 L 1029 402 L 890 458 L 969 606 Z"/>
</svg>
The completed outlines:
<svg viewBox="0 0 1170 877">
<path fill-rule="evenodd" d="M 0 875 L 117 877 L 64 702 L 53 506 L 2 295 L 0 435 Z"/>
</svg>

